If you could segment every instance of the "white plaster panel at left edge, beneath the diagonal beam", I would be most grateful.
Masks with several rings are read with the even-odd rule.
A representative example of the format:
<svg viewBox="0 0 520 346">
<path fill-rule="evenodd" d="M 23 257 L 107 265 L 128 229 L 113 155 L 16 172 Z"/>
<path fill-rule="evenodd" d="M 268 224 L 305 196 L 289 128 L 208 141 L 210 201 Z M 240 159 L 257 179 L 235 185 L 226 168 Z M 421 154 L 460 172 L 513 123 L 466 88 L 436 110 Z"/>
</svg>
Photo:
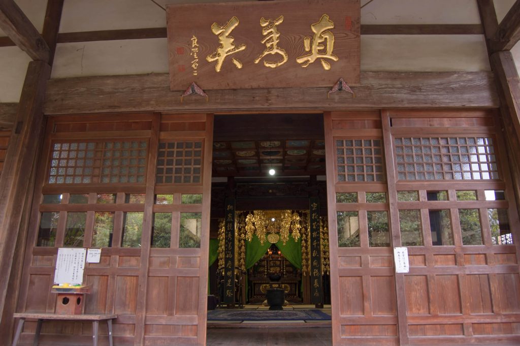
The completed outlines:
<svg viewBox="0 0 520 346">
<path fill-rule="evenodd" d="M 31 58 L 18 47 L 0 48 L 0 102 L 18 102 Z"/>
</svg>

